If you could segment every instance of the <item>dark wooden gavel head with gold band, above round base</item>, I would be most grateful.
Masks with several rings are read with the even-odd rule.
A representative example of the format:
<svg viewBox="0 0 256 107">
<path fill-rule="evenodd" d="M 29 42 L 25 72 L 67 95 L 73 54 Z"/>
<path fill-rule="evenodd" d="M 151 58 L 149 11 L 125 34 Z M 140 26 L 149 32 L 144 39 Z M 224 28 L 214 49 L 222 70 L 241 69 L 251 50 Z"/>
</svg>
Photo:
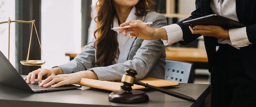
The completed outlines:
<svg viewBox="0 0 256 107">
<path fill-rule="evenodd" d="M 123 75 L 121 79 L 121 89 L 125 91 L 131 91 L 134 81 L 136 79 L 135 75 L 137 75 L 137 72 L 130 68 L 128 68 L 125 72 L 126 73 Z"/>
</svg>

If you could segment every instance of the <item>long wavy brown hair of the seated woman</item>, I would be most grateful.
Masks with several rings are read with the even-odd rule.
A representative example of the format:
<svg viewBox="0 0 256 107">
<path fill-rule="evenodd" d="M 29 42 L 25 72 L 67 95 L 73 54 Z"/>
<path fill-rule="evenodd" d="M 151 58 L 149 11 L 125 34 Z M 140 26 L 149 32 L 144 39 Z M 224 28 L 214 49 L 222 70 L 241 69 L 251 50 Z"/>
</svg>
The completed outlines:
<svg viewBox="0 0 256 107">
<path fill-rule="evenodd" d="M 135 5 L 135 15 L 144 16 L 149 11 L 150 5 L 155 4 L 151 0 L 139 0 Z M 98 66 L 109 66 L 112 65 L 112 61 L 115 60 L 115 55 L 118 52 L 118 41 L 115 31 L 111 30 L 113 26 L 113 19 L 116 17 L 116 11 L 114 8 L 113 0 L 98 0 L 95 5 L 97 9 L 97 16 L 95 22 L 97 28 L 94 31 L 94 47 L 96 48 L 97 61 L 94 64 Z M 97 37 L 95 34 L 97 33 Z"/>
</svg>

